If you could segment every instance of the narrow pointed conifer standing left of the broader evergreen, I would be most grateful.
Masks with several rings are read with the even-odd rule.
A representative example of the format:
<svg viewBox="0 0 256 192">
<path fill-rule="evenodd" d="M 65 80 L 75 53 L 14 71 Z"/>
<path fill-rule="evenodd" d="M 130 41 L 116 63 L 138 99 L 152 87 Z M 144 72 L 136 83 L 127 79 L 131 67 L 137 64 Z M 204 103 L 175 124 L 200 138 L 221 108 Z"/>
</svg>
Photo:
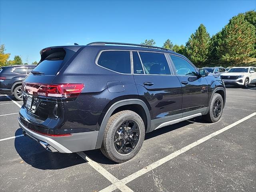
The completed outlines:
<svg viewBox="0 0 256 192">
<path fill-rule="evenodd" d="M 200 24 L 188 42 L 186 42 L 186 53 L 188 58 L 197 65 L 204 64 L 210 55 L 212 41 L 206 27 Z"/>
</svg>

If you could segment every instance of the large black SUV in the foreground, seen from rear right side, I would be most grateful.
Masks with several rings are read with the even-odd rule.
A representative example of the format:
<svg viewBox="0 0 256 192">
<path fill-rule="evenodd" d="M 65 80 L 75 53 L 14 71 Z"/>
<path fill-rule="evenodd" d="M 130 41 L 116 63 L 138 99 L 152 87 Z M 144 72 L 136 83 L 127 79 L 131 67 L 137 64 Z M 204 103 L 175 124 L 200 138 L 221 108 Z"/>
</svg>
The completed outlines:
<svg viewBox="0 0 256 192">
<path fill-rule="evenodd" d="M 222 80 L 171 50 L 94 42 L 40 54 L 23 81 L 18 120 L 25 136 L 51 152 L 100 148 L 124 162 L 139 152 L 145 133 L 201 115 L 217 122 L 222 115 Z"/>
</svg>

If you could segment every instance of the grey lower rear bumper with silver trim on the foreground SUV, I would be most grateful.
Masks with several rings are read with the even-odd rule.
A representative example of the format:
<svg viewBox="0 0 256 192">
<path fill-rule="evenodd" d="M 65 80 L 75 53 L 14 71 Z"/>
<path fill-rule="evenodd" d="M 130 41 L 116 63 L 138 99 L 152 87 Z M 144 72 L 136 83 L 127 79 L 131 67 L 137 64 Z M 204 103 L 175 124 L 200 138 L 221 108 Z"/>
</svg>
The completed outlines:
<svg viewBox="0 0 256 192">
<path fill-rule="evenodd" d="M 92 150 L 96 147 L 98 131 L 74 133 L 71 136 L 44 136 L 28 129 L 20 119 L 19 125 L 24 131 L 25 136 L 29 136 L 39 142 L 46 150 L 51 152 L 73 153 L 79 151 Z"/>
</svg>

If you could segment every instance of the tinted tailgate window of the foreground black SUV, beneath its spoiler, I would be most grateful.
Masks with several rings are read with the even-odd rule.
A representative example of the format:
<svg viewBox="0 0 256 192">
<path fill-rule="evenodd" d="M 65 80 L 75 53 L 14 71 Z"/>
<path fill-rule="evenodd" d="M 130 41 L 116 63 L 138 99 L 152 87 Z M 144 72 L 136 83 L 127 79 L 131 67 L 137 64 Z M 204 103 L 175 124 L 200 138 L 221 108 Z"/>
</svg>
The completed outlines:
<svg viewBox="0 0 256 192">
<path fill-rule="evenodd" d="M 44 75 L 56 75 L 62 66 L 65 54 L 65 51 L 53 52 L 32 70 L 42 72 Z"/>
</svg>

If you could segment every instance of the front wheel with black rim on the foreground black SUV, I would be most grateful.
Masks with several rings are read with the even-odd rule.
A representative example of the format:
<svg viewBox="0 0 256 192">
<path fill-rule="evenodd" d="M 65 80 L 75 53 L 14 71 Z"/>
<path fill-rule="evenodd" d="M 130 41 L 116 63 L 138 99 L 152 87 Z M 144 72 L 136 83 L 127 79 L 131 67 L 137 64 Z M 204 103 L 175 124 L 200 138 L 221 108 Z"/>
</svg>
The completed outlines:
<svg viewBox="0 0 256 192">
<path fill-rule="evenodd" d="M 218 106 L 218 104 L 220 104 L 220 106 Z M 223 105 L 224 102 L 222 96 L 218 93 L 214 93 L 210 102 L 210 109 L 206 115 L 203 115 L 203 119 L 211 123 L 215 123 L 220 120 L 223 112 Z M 216 112 L 215 110 L 218 110 L 218 112 Z"/>
</svg>

